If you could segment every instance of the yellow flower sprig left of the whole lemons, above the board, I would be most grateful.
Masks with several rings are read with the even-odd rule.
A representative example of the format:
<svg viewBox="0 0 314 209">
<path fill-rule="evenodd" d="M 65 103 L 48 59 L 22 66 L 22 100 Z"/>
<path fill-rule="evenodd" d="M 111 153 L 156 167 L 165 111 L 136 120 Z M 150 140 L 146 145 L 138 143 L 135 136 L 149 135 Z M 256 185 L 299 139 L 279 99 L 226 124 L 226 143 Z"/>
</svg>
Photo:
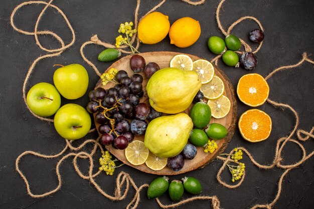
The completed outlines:
<svg viewBox="0 0 314 209">
<path fill-rule="evenodd" d="M 130 47 L 132 53 L 134 54 L 135 52 L 136 53 L 139 53 L 139 52 L 130 43 L 129 38 L 137 33 L 136 29 L 132 29 L 132 26 L 133 26 L 133 22 L 129 22 L 129 23 L 125 22 L 124 24 L 123 23 L 120 24 L 120 28 L 118 32 L 125 36 L 119 35 L 117 38 L 115 38 L 115 46 L 116 48 L 120 48 L 121 45 L 125 44 Z"/>
</svg>

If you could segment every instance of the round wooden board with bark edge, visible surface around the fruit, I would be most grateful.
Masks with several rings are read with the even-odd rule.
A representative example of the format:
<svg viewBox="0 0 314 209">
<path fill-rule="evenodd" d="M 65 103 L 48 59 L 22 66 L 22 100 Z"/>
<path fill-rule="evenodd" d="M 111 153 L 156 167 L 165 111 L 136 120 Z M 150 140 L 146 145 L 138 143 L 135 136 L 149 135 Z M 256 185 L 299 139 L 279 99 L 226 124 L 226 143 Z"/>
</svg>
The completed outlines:
<svg viewBox="0 0 314 209">
<path fill-rule="evenodd" d="M 146 53 L 140 53 L 139 55 L 141 55 L 145 59 L 146 64 L 149 62 L 155 62 L 162 69 L 162 68 L 169 67 L 170 61 L 172 60 L 172 58 L 178 54 L 182 54 L 182 53 L 177 53 L 177 52 L 146 52 Z M 202 58 L 199 58 L 199 57 L 194 56 L 194 55 L 189 55 L 189 54 L 187 54 L 187 55 L 190 56 L 193 61 L 202 59 Z M 130 66 L 129 66 L 129 60 L 130 60 L 131 56 L 132 55 L 121 58 L 120 60 L 113 63 L 107 70 L 109 70 L 111 68 L 115 68 L 118 70 L 125 70 L 128 73 L 128 75 L 131 76 L 133 74 L 133 71 L 130 69 Z M 215 67 L 215 75 L 219 76 L 225 84 L 224 95 L 227 96 L 231 102 L 231 109 L 230 109 L 230 112 L 228 113 L 227 116 L 225 116 L 224 118 L 221 118 L 221 119 L 216 119 L 216 118 L 212 117 L 212 119 L 210 121 L 210 123 L 220 123 L 220 124 L 224 125 L 228 130 L 228 134 L 225 138 L 216 141 L 217 145 L 218 145 L 218 149 L 216 149 L 214 153 L 205 153 L 203 151 L 204 150 L 203 147 L 197 147 L 196 157 L 192 160 L 185 160 L 185 165 L 181 170 L 173 171 L 173 170 L 169 169 L 168 166 L 166 166 L 162 170 L 151 170 L 150 168 L 148 168 L 145 165 L 145 163 L 142 165 L 132 165 L 126 160 L 125 155 L 124 155 L 124 150 L 114 149 L 111 145 L 106 146 L 106 149 L 111 154 L 113 154 L 116 158 L 121 160 L 123 163 L 125 163 L 129 166 L 132 166 L 138 170 L 141 170 L 143 172 L 158 174 L 158 175 L 176 175 L 176 174 L 185 173 L 185 172 L 197 169 L 197 168 L 203 168 L 205 165 L 207 165 L 209 162 L 211 162 L 213 159 L 215 159 L 219 153 L 222 153 L 225 150 L 225 148 L 227 147 L 228 143 L 230 142 L 230 140 L 234 134 L 235 125 L 236 125 L 236 116 L 237 116 L 237 102 L 236 102 L 236 98 L 235 98 L 235 94 L 234 94 L 234 89 L 233 89 L 233 86 L 232 86 L 230 80 L 223 73 L 222 70 L 220 70 L 215 65 L 214 65 L 214 67 Z M 143 83 L 142 83 L 143 90 L 144 90 L 144 96 L 140 99 L 140 102 L 144 102 L 144 103 L 149 104 L 148 96 L 147 96 L 147 92 L 146 92 L 146 84 L 147 84 L 148 78 L 146 78 L 144 76 L 144 73 L 140 73 L 140 74 L 144 78 Z M 96 84 L 95 89 L 98 87 L 103 87 L 105 89 L 108 89 L 108 88 L 113 87 L 113 86 L 114 86 L 113 83 L 108 83 L 105 87 L 103 87 L 101 84 L 101 80 L 99 80 L 98 83 Z M 189 114 L 191 107 L 192 107 L 192 105 L 187 110 L 185 110 L 184 112 Z M 94 114 L 94 116 L 95 116 L 95 114 Z M 98 127 L 99 127 L 99 124 L 96 124 L 97 131 L 98 131 Z M 136 136 L 134 138 L 134 140 L 144 141 L 144 136 Z"/>
</svg>

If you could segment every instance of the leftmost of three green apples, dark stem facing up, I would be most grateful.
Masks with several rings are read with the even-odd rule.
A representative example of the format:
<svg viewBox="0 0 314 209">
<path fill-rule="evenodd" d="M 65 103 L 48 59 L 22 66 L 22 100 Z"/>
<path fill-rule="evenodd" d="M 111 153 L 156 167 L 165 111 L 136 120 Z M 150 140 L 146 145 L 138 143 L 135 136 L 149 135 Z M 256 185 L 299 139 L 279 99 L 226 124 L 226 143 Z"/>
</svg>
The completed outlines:
<svg viewBox="0 0 314 209">
<path fill-rule="evenodd" d="M 47 117 L 55 114 L 61 105 L 61 97 L 56 87 L 49 83 L 38 83 L 26 96 L 26 103 L 35 114 Z"/>
</svg>

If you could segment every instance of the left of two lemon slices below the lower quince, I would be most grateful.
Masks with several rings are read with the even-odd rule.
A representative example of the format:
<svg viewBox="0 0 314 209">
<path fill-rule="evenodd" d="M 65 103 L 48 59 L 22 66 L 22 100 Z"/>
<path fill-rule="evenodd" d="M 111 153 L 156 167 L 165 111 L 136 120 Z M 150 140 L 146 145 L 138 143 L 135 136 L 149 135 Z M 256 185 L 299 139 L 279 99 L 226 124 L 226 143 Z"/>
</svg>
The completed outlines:
<svg viewBox="0 0 314 209">
<path fill-rule="evenodd" d="M 132 165 L 143 164 L 148 157 L 149 150 L 142 141 L 132 141 L 125 149 L 125 157 Z"/>
</svg>

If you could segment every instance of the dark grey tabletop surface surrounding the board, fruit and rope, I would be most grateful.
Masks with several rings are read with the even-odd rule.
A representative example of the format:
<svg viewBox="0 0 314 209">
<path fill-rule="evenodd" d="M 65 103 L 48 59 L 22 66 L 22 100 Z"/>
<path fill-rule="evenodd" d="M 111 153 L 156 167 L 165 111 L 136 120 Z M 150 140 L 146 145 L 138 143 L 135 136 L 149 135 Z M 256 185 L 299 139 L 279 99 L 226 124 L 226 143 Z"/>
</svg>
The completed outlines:
<svg viewBox="0 0 314 209">
<path fill-rule="evenodd" d="M 40 121 L 32 116 L 26 109 L 22 98 L 22 85 L 30 64 L 34 59 L 46 52 L 41 51 L 35 44 L 33 36 L 19 34 L 10 25 L 10 15 L 13 9 L 22 1 L 1 1 L 0 7 L 0 102 L 1 102 L 1 145 L 0 145 L 0 208 L 123 208 L 134 194 L 131 192 L 123 201 L 112 202 L 96 191 L 87 180 L 81 179 L 75 172 L 72 159 L 67 159 L 61 166 L 62 188 L 45 198 L 31 198 L 27 195 L 26 186 L 20 175 L 15 170 L 15 159 L 25 150 L 34 150 L 51 154 L 61 151 L 65 145 L 64 140 L 56 133 L 53 124 Z M 145 14 L 159 1 L 142 1 L 140 15 Z M 155 45 L 142 45 L 140 52 L 149 51 L 175 51 L 195 54 L 211 60 L 214 55 L 207 48 L 207 40 L 210 36 L 221 33 L 217 30 L 215 10 L 219 1 L 207 0 L 202 6 L 193 7 L 179 0 L 167 1 L 160 9 L 169 16 L 171 24 L 182 17 L 189 16 L 200 21 L 202 34 L 193 46 L 180 49 L 170 45 L 167 37 L 161 43 Z M 125 21 L 133 21 L 135 0 L 110 0 L 110 1 L 55 1 L 56 6 L 67 15 L 75 34 L 76 42 L 61 56 L 41 61 L 30 79 L 29 88 L 39 82 L 53 83 L 52 77 L 55 71 L 53 64 L 83 65 L 89 73 L 89 88 L 94 88 L 98 77 L 81 58 L 79 49 L 85 41 L 97 34 L 100 40 L 114 43 L 118 35 L 119 24 Z M 43 5 L 28 6 L 17 14 L 16 25 L 27 31 L 33 31 L 35 21 L 41 12 Z M 308 1 L 227 1 L 223 6 L 221 21 L 225 26 L 242 16 L 254 16 L 260 20 L 265 30 L 265 41 L 261 50 L 257 53 L 258 65 L 254 73 L 266 76 L 273 69 L 297 63 L 304 51 L 314 53 L 314 2 Z M 233 34 L 250 43 L 247 34 L 257 28 L 253 21 L 245 21 L 239 24 Z M 70 33 L 65 22 L 56 11 L 49 9 L 39 30 L 52 30 L 67 42 L 70 42 Z M 51 37 L 40 37 L 41 43 L 46 47 L 55 48 L 58 43 Z M 251 44 L 251 43 L 250 43 Z M 256 47 L 256 44 L 251 46 Z M 85 49 L 87 58 L 96 63 L 103 72 L 111 63 L 97 62 L 97 55 L 102 47 L 88 46 Z M 230 68 L 219 61 L 220 67 L 228 75 L 233 85 L 236 86 L 239 78 L 249 73 L 242 68 Z M 250 73 L 251 73 L 250 72 Z M 290 104 L 299 113 L 300 128 L 310 130 L 313 125 L 313 66 L 304 63 L 302 66 L 279 73 L 268 81 L 270 86 L 269 98 Z M 85 106 L 88 101 L 87 94 L 75 101 L 63 99 L 62 104 L 75 102 Z M 238 101 L 238 117 L 250 107 Z M 268 113 L 273 122 L 273 130 L 268 140 L 260 143 L 246 142 L 236 129 L 234 137 L 226 149 L 229 152 L 236 146 L 246 147 L 258 162 L 271 163 L 274 157 L 276 140 L 287 135 L 294 125 L 294 116 L 289 110 L 282 111 L 269 104 L 264 104 L 258 109 Z M 85 138 L 96 138 L 97 134 L 90 134 Z M 84 139 L 75 141 L 80 144 Z M 313 142 L 302 143 L 307 151 L 312 151 Z M 99 157 L 99 153 L 97 155 Z M 297 145 L 288 143 L 284 148 L 283 157 L 285 163 L 295 162 L 300 159 L 301 153 Z M 180 179 L 185 175 L 200 179 L 203 184 L 203 195 L 217 195 L 223 208 L 249 208 L 256 203 L 266 203 L 273 200 L 277 181 L 283 172 L 281 169 L 259 170 L 250 163 L 247 156 L 243 157 L 246 163 L 246 178 L 243 184 L 236 189 L 228 189 L 221 186 L 216 180 L 216 174 L 222 163 L 215 160 L 205 168 L 195 170 L 170 179 Z M 31 189 L 34 193 L 43 193 L 55 188 L 57 177 L 55 165 L 57 159 L 41 159 L 34 156 L 26 156 L 20 166 L 28 177 Z M 96 159 L 97 162 L 97 159 Z M 87 172 L 87 161 L 80 160 L 80 166 Z M 313 208 L 313 178 L 314 163 L 307 160 L 297 169 L 290 171 L 282 187 L 282 193 L 275 204 L 275 208 Z M 96 178 L 97 182 L 109 194 L 114 192 L 114 181 L 119 171 L 131 174 L 137 185 L 149 183 L 156 176 L 142 173 L 132 167 L 122 166 L 116 169 L 113 176 L 101 174 Z M 225 170 L 223 179 L 230 181 L 230 173 Z M 146 189 L 141 192 L 141 202 L 138 208 L 159 208 L 154 200 L 146 197 Z M 184 194 L 184 197 L 191 195 Z M 168 195 L 162 198 L 164 203 L 170 203 Z M 211 208 L 211 202 L 195 201 L 180 208 Z"/>
</svg>

